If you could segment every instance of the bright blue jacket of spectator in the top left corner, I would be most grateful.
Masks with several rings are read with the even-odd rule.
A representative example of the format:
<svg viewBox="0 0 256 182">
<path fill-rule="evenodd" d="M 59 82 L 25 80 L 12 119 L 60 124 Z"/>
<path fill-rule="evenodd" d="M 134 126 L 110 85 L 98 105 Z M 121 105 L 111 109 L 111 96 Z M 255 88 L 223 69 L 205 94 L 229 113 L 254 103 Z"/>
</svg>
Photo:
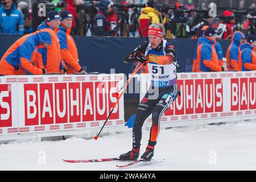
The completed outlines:
<svg viewBox="0 0 256 182">
<path fill-rule="evenodd" d="M 3 5 L 0 7 L 0 33 L 2 34 L 24 34 L 23 18 L 15 5 L 6 10 Z"/>
</svg>

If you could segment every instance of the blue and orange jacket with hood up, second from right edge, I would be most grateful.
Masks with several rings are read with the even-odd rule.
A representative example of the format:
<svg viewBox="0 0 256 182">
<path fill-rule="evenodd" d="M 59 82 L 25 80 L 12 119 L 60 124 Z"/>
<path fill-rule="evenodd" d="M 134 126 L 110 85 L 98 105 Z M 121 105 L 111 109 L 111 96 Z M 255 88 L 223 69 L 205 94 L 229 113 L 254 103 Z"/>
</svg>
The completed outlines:
<svg viewBox="0 0 256 182">
<path fill-rule="evenodd" d="M 229 71 L 238 71 L 238 53 L 242 38 L 245 38 L 245 35 L 240 31 L 234 32 L 232 36 L 232 42 L 226 52 L 226 68 Z"/>
</svg>

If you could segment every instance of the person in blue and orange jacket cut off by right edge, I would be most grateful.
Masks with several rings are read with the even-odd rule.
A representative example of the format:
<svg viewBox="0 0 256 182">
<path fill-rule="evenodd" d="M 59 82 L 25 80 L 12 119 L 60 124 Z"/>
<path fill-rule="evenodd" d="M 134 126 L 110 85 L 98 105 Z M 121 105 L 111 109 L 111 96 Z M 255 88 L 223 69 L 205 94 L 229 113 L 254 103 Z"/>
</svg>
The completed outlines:
<svg viewBox="0 0 256 182">
<path fill-rule="evenodd" d="M 239 69 L 240 71 L 256 70 L 256 35 L 248 35 L 246 42 L 240 47 Z"/>
</svg>

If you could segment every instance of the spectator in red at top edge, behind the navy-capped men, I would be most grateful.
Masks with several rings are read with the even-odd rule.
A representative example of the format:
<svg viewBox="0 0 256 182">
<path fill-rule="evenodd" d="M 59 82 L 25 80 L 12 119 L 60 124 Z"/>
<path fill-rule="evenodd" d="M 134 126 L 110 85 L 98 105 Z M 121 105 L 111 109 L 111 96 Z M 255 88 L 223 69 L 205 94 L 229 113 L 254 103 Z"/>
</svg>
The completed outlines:
<svg viewBox="0 0 256 182">
<path fill-rule="evenodd" d="M 77 22 L 79 22 L 79 16 L 76 13 L 76 0 L 66 0 L 67 3 L 66 10 L 69 11 L 72 16 L 73 16 L 73 21 L 72 21 L 72 33 L 74 35 L 77 35 L 78 28 L 77 28 Z"/>
</svg>

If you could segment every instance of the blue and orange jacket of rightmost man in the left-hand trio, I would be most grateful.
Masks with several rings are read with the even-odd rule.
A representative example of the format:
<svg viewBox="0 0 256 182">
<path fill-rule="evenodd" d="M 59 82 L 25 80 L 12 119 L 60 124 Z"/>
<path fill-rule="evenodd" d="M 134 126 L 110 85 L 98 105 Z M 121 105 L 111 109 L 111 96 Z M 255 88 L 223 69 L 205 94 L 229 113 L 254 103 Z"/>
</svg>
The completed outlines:
<svg viewBox="0 0 256 182">
<path fill-rule="evenodd" d="M 67 65 L 67 71 L 68 73 L 80 72 L 81 67 L 78 63 L 79 59 L 76 44 L 70 35 L 71 28 L 60 24 L 59 29 L 60 31 L 57 32 L 57 36 L 60 40 L 60 54 Z"/>
</svg>

